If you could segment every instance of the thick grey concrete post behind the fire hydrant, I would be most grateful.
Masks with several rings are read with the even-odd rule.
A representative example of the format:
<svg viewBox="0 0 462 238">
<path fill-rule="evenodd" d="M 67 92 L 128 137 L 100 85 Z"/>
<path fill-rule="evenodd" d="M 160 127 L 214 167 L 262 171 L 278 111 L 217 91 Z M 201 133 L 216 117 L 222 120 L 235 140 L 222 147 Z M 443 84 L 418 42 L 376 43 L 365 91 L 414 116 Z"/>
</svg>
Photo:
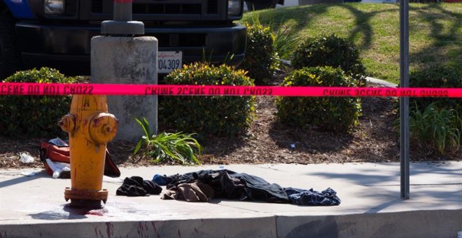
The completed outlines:
<svg viewBox="0 0 462 238">
<path fill-rule="evenodd" d="M 91 41 L 92 83 L 157 84 L 158 40 L 152 36 L 94 36 Z M 138 141 L 144 135 L 135 118 L 145 117 L 157 133 L 157 96 L 108 96 L 119 120 L 115 139 Z"/>
</svg>

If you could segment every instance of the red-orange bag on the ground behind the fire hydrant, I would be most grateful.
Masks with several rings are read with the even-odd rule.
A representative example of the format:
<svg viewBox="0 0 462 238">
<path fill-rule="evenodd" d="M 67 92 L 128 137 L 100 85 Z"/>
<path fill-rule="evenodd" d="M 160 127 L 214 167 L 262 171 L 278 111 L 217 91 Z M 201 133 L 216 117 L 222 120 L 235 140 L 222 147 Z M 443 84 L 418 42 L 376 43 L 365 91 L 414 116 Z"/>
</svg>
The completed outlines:
<svg viewBox="0 0 462 238">
<path fill-rule="evenodd" d="M 43 141 L 40 144 L 40 160 L 45 165 L 45 171 L 47 174 L 52 175 L 53 171 L 48 166 L 46 159 L 50 159 L 52 162 L 64 162 L 71 163 L 71 157 L 69 156 L 69 146 L 57 146 L 50 142 Z M 106 160 L 104 161 L 104 175 L 111 177 L 120 176 L 120 170 L 114 164 L 109 151 L 106 150 Z"/>
</svg>

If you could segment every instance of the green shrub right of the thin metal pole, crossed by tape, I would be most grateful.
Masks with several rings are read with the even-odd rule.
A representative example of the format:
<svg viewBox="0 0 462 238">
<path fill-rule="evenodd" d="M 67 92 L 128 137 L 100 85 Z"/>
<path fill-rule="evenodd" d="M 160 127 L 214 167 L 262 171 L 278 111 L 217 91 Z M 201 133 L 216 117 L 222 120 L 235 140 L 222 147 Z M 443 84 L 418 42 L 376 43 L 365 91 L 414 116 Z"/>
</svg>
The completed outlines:
<svg viewBox="0 0 462 238">
<path fill-rule="evenodd" d="M 428 66 L 424 69 L 418 69 L 409 73 L 410 87 L 462 87 L 461 69 L 451 66 Z M 444 109 L 454 109 L 459 115 L 462 115 L 462 99 L 449 99 L 441 97 L 421 97 L 415 98 L 414 104 L 419 109 L 426 109 L 427 106 L 434 104 Z M 412 103 L 411 103 L 412 104 Z"/>
</svg>

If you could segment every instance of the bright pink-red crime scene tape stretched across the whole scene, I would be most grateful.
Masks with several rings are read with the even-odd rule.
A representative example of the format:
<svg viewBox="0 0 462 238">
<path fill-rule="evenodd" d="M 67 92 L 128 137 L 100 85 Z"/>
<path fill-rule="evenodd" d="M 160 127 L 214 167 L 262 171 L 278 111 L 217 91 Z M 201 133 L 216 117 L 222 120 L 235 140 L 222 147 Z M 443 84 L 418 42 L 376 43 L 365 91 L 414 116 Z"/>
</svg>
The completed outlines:
<svg viewBox="0 0 462 238">
<path fill-rule="evenodd" d="M 0 95 L 172 95 L 284 97 L 462 97 L 462 88 L 283 87 L 229 85 L 134 85 L 95 83 L 0 83 Z"/>
</svg>

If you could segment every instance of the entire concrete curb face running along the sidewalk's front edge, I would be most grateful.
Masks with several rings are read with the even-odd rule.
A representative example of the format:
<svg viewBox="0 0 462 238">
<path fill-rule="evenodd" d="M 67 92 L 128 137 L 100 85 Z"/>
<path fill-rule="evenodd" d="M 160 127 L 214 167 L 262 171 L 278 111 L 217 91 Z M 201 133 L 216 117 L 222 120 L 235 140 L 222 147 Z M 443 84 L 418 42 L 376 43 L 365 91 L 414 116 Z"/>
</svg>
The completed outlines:
<svg viewBox="0 0 462 238">
<path fill-rule="evenodd" d="M 209 211 L 213 212 L 213 211 Z M 1 237 L 456 237 L 462 210 L 0 225 Z"/>
</svg>

